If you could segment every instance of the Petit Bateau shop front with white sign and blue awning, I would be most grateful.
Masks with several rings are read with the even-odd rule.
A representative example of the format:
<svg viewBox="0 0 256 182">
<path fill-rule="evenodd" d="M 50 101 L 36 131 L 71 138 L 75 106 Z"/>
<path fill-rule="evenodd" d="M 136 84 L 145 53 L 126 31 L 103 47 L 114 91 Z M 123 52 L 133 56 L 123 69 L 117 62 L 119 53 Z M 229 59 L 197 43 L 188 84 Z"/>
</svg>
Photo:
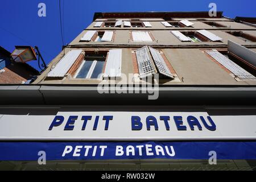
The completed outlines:
<svg viewBox="0 0 256 182">
<path fill-rule="evenodd" d="M 0 169 L 255 170 L 255 121 L 253 106 L 5 105 Z"/>
</svg>

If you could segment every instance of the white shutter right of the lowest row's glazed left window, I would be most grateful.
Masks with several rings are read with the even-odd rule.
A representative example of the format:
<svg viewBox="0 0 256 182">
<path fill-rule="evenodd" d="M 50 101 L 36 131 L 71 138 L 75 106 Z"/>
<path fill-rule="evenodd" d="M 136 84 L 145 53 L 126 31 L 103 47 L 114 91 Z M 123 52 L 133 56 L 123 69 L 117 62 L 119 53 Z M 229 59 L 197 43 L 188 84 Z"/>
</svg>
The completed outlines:
<svg viewBox="0 0 256 182">
<path fill-rule="evenodd" d="M 111 49 L 106 60 L 104 77 L 121 78 L 122 49 Z"/>
</svg>

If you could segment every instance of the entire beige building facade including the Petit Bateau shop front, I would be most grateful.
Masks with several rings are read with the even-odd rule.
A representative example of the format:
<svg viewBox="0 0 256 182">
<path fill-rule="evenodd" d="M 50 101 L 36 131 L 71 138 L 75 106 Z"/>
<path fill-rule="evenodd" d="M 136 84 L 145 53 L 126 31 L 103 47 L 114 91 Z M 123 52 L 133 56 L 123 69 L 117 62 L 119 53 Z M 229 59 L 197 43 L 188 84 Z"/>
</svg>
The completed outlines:
<svg viewBox="0 0 256 182">
<path fill-rule="evenodd" d="M 2 166 L 255 170 L 255 66 L 255 25 L 222 12 L 95 13 L 31 85 L 0 89 L 2 147 L 48 154 Z"/>
</svg>

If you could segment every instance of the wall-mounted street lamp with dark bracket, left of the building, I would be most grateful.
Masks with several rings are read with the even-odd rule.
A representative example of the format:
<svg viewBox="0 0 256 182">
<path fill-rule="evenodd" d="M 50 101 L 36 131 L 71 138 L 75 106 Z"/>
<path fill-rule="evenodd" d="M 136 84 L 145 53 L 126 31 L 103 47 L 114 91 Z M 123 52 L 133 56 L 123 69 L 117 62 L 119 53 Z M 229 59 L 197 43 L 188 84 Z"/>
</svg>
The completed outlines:
<svg viewBox="0 0 256 182">
<path fill-rule="evenodd" d="M 38 59 L 36 58 L 36 55 L 38 55 Z M 47 68 L 46 63 L 43 60 L 43 57 L 41 53 L 39 52 L 39 49 L 37 46 L 34 48 L 31 46 L 15 46 L 15 49 L 13 53 L 11 53 L 11 57 L 13 60 L 17 63 L 26 63 L 27 61 L 31 60 L 38 60 L 38 66 L 40 69 L 40 58 L 43 61 L 42 66 L 44 67 L 43 69 Z"/>
</svg>

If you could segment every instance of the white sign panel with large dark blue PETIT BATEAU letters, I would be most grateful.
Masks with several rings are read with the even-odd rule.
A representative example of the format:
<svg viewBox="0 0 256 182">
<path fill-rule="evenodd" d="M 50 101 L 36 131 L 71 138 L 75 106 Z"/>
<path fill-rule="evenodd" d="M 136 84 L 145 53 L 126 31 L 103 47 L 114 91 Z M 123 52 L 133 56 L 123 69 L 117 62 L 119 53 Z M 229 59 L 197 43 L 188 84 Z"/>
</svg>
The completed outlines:
<svg viewBox="0 0 256 182">
<path fill-rule="evenodd" d="M 58 112 L 0 118 L 1 140 L 256 139 L 256 115 L 206 112 Z"/>
</svg>

